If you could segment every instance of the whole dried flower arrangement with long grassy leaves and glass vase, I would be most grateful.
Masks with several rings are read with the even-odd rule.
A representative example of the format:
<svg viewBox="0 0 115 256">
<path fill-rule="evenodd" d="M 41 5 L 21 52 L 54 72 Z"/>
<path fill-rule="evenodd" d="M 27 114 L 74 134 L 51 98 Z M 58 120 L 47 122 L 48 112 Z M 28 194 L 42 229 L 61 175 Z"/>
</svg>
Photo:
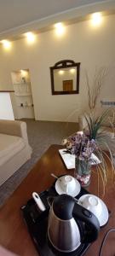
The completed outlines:
<svg viewBox="0 0 115 256">
<path fill-rule="evenodd" d="M 111 163 L 113 177 L 114 166 L 112 152 L 115 152 L 115 137 L 112 138 L 110 134 L 106 134 L 101 127 L 107 115 L 108 110 L 102 113 L 98 118 L 94 118 L 94 115 L 86 114 L 87 130 L 78 131 L 63 140 L 63 145 L 66 146 L 67 152 L 75 155 L 75 169 L 78 169 L 77 178 L 84 186 L 89 184 L 91 154 L 96 154 L 101 164 L 95 167 L 98 175 L 99 173 L 101 175 L 104 193 L 108 172 L 106 159 Z"/>
</svg>

